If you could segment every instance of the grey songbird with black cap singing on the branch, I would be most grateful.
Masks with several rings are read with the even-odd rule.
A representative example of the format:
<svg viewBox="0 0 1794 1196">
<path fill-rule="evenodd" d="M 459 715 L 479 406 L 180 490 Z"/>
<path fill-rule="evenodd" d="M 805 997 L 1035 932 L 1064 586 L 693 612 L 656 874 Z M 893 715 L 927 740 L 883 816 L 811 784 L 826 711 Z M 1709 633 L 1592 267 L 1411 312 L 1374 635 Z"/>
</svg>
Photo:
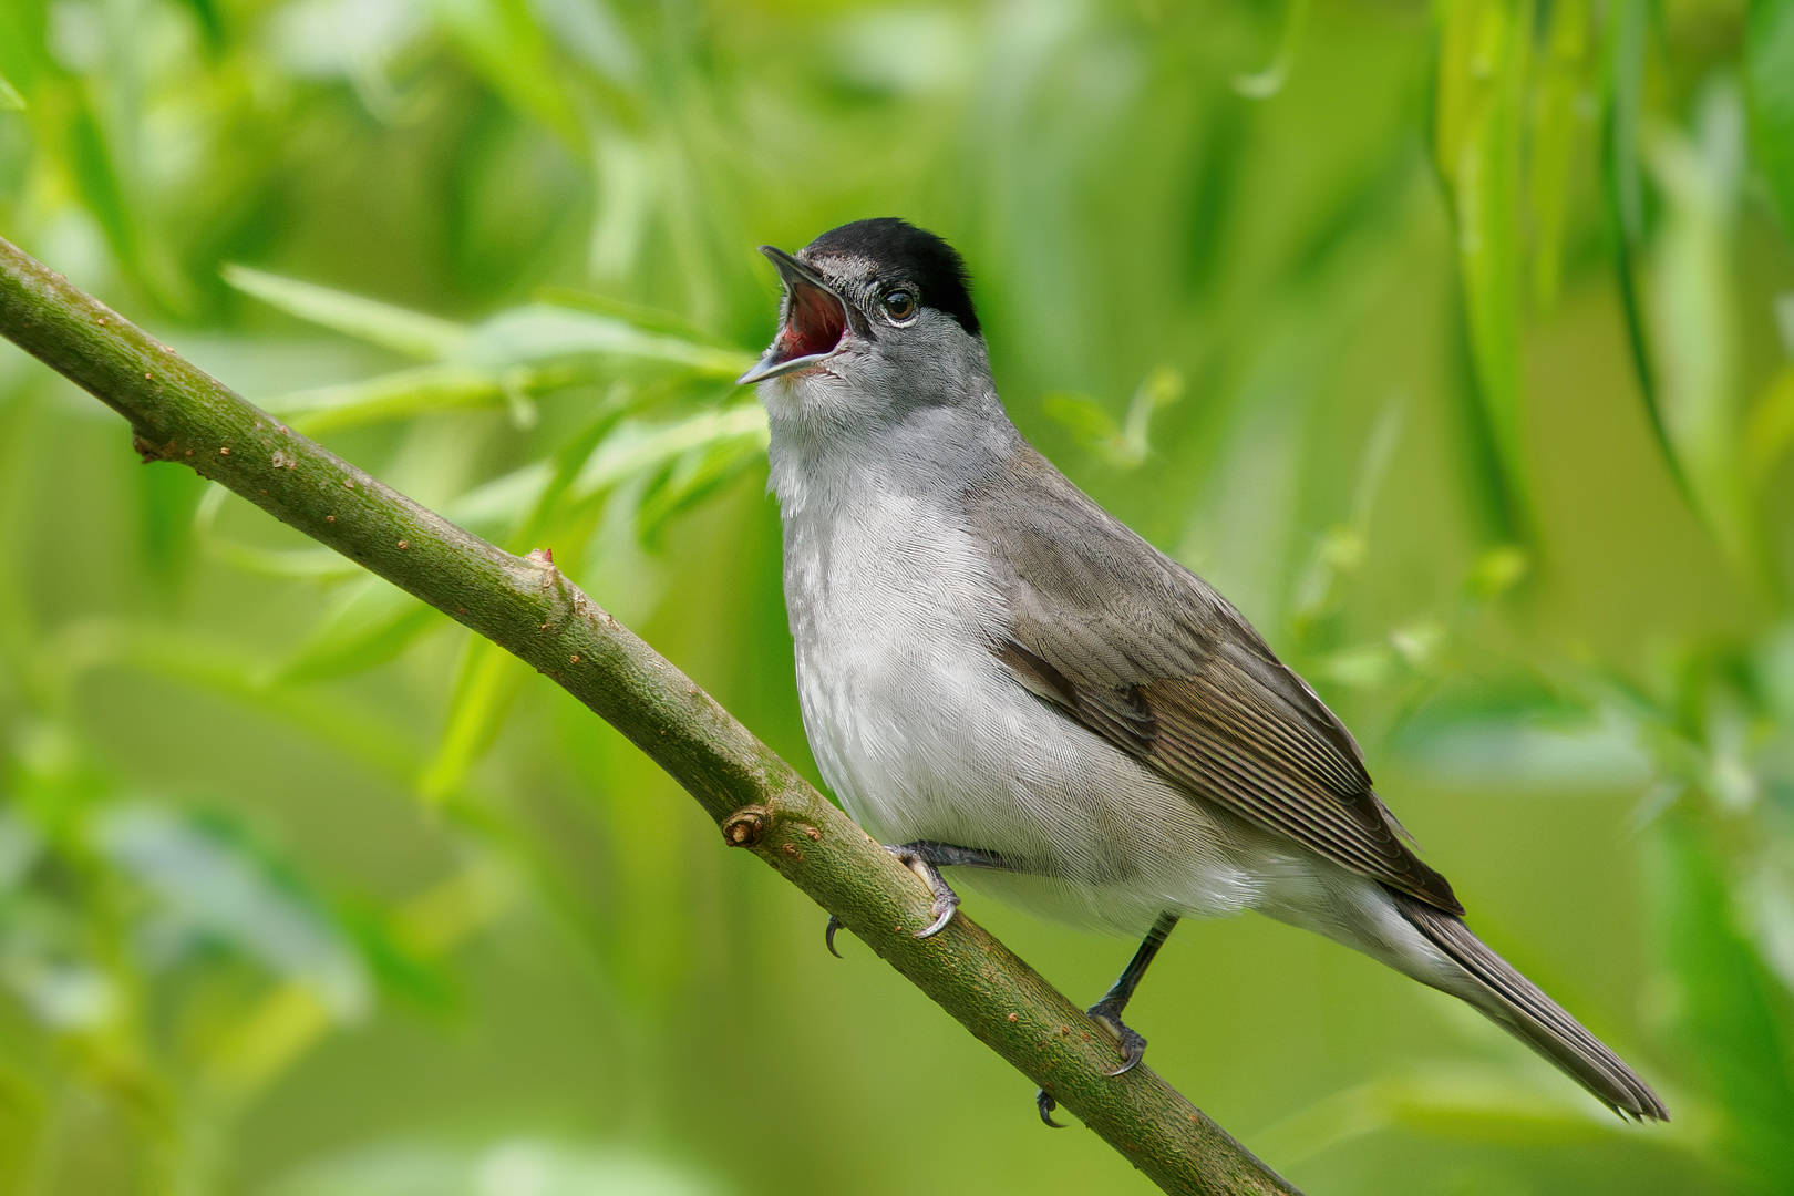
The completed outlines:
<svg viewBox="0 0 1794 1196">
<path fill-rule="evenodd" d="M 761 253 L 779 326 L 739 382 L 768 414 L 804 730 L 927 882 L 919 936 L 954 916 L 953 884 L 1141 936 L 1089 1010 L 1123 1074 L 1146 1049 L 1123 1013 L 1177 922 L 1256 909 L 1469 1002 L 1622 1117 L 1668 1119 L 1466 927 L 1252 624 L 1023 438 L 953 246 L 875 217 Z"/>
</svg>

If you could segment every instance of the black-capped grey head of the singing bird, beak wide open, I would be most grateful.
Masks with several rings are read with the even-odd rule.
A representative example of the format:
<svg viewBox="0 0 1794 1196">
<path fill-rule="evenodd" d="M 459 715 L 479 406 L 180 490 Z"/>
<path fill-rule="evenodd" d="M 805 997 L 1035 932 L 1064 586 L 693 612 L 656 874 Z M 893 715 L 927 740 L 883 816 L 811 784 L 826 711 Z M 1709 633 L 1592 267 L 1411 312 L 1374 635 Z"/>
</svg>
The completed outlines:
<svg viewBox="0 0 1794 1196">
<path fill-rule="evenodd" d="M 856 221 L 793 256 L 761 246 L 784 282 L 779 334 L 743 384 L 773 414 L 850 421 L 956 405 L 990 368 L 965 262 L 895 217 Z"/>
</svg>

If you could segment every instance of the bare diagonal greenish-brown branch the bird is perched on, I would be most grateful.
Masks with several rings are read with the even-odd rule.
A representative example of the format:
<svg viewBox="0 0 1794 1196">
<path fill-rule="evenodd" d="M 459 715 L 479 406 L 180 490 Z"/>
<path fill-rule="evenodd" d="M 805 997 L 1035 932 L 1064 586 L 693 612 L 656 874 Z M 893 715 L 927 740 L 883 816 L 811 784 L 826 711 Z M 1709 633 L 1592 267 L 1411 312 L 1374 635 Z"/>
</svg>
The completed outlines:
<svg viewBox="0 0 1794 1196">
<path fill-rule="evenodd" d="M 1166 1192 L 1295 1189 L 963 913 L 929 940 L 922 882 L 709 694 L 579 592 L 294 434 L 106 305 L 0 240 L 0 334 L 129 420 L 145 463 L 192 466 L 553 678 L 980 1042 Z M 1014 1115 L 1024 1114 L 1019 1103 Z"/>
</svg>

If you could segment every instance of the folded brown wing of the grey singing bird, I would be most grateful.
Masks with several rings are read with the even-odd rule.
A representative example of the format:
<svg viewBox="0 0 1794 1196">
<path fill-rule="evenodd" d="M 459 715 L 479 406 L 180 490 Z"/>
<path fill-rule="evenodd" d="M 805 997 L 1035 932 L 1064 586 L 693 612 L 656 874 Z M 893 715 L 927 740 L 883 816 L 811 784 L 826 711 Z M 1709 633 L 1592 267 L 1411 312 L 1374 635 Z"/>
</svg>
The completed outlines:
<svg viewBox="0 0 1794 1196">
<path fill-rule="evenodd" d="M 1030 457 L 969 493 L 1012 613 L 992 647 L 1017 681 L 1179 787 L 1464 913 L 1403 843 L 1351 733 L 1250 624 Z"/>
</svg>

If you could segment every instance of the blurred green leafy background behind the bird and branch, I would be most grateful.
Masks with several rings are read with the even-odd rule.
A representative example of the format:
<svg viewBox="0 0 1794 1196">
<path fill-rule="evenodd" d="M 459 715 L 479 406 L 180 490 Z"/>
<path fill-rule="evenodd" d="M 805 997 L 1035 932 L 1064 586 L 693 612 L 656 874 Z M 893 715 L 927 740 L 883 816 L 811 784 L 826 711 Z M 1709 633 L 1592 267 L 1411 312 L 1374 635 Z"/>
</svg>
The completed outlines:
<svg viewBox="0 0 1794 1196">
<path fill-rule="evenodd" d="M 0 235 L 813 778 L 753 247 L 944 233 L 1023 430 L 1676 1121 L 1252 916 L 1154 1067 L 1317 1194 L 1794 1191 L 1794 2 L 0 0 Z M 822 922 L 0 346 L 0 1191 L 1148 1191 Z"/>
</svg>

